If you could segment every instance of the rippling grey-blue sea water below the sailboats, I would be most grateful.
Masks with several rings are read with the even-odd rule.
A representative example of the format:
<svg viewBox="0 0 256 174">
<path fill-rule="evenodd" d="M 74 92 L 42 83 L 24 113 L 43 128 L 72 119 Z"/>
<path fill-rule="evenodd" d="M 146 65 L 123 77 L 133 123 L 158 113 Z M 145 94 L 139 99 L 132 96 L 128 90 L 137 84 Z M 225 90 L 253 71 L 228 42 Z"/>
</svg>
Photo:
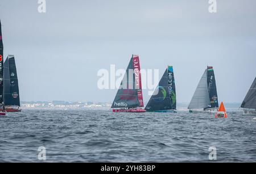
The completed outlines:
<svg viewBox="0 0 256 174">
<path fill-rule="evenodd" d="M 0 117 L 0 162 L 256 162 L 256 120 L 213 114 L 23 110 Z M 46 147 L 46 161 L 38 148 Z"/>
</svg>

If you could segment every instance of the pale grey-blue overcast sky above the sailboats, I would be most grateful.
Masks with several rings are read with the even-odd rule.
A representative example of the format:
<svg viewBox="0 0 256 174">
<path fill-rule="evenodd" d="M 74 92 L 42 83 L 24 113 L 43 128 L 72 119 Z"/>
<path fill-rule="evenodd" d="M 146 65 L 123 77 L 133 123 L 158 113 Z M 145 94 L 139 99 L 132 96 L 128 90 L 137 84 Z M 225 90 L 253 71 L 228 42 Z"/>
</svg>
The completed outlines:
<svg viewBox="0 0 256 174">
<path fill-rule="evenodd" d="M 256 76 L 256 1 L 1 0 L 4 56 L 14 54 L 22 101 L 112 102 L 97 71 L 174 66 L 177 102 L 189 102 L 207 65 L 220 101 L 241 103 Z M 143 80 L 143 79 L 142 79 Z M 147 90 L 143 91 L 145 102 Z"/>
</svg>

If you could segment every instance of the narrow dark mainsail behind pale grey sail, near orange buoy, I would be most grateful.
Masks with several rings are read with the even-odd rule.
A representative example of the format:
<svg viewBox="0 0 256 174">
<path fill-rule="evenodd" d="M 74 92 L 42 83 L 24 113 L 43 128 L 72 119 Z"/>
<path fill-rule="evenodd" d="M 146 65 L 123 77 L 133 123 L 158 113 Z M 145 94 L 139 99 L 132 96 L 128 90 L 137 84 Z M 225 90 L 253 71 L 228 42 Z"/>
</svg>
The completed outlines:
<svg viewBox="0 0 256 174">
<path fill-rule="evenodd" d="M 212 66 L 207 66 L 207 85 L 210 97 L 210 107 L 208 108 L 218 108 L 218 95 Z"/>
</svg>

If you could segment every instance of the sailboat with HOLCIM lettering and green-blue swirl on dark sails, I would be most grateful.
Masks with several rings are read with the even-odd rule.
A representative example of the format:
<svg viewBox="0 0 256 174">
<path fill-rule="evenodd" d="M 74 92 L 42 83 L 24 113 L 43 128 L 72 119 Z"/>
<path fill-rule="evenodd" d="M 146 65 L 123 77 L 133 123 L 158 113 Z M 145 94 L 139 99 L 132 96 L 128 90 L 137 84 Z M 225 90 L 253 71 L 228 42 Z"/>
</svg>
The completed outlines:
<svg viewBox="0 0 256 174">
<path fill-rule="evenodd" d="M 174 69 L 168 66 L 146 106 L 147 112 L 176 113 Z"/>
</svg>

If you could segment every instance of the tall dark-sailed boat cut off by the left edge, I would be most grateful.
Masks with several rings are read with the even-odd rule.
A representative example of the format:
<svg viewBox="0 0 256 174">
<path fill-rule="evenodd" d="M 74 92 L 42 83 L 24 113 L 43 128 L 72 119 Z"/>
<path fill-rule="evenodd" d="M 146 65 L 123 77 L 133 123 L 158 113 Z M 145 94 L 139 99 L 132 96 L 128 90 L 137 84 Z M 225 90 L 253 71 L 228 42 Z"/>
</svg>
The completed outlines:
<svg viewBox="0 0 256 174">
<path fill-rule="evenodd" d="M 0 115 L 6 115 L 3 105 L 3 40 L 2 40 L 2 25 L 0 20 Z"/>
</svg>

